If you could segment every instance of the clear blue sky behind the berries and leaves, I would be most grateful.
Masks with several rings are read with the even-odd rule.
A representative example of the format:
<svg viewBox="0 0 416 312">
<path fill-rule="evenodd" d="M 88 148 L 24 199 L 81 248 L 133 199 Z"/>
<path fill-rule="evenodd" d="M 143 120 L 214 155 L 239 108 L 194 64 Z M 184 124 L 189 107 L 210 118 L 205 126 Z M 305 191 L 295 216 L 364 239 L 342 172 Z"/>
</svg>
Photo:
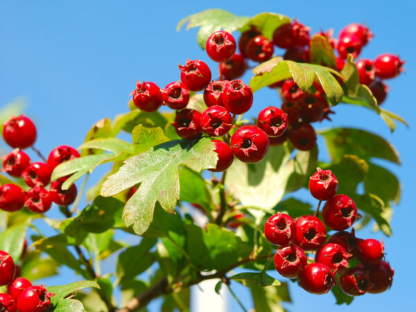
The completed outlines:
<svg viewBox="0 0 416 312">
<path fill-rule="evenodd" d="M 403 184 L 403 197 L 392 220 L 393 236 L 385 238 L 388 260 L 395 268 L 393 287 L 383 295 L 366 295 L 351 306 L 336 307 L 331 295 L 309 295 L 291 285 L 295 303 L 287 308 L 391 311 L 400 304 L 401 311 L 411 311 L 416 278 L 412 231 L 416 24 L 412 1 L 400 5 L 392 1 L 0 1 L 0 105 L 26 96 L 26 112 L 37 123 L 36 146 L 45 154 L 60 144 L 79 146 L 94 122 L 127 111 L 128 94 L 137 79 L 164 87 L 179 78 L 177 64 L 187 58 L 200 58 L 214 71 L 214 63 L 196 44 L 196 31 L 175 31 L 182 17 L 207 8 L 223 8 L 237 15 L 278 12 L 300 19 L 313 32 L 334 28 L 338 33 L 346 24 L 365 21 L 375 35 L 362 57 L 389 52 L 406 60 L 406 72 L 388 81 L 390 94 L 384 107 L 404 116 L 409 129 L 398 125 L 390 134 L 379 116 L 347 105 L 335 108 L 332 123 L 322 123 L 322 127 L 352 126 L 377 132 L 399 150 L 402 166 L 383 162 Z M 247 74 L 245 82 L 249 78 Z M 262 90 L 254 96 L 252 114 L 279 103 L 272 91 Z M 321 153 L 325 157 L 325 151 Z M 374 237 L 381 239 L 382 235 Z M 67 271 L 63 274 L 69 277 Z M 243 302 L 251 306 L 247 296 Z M 237 309 L 235 304 L 232 307 Z"/>
</svg>

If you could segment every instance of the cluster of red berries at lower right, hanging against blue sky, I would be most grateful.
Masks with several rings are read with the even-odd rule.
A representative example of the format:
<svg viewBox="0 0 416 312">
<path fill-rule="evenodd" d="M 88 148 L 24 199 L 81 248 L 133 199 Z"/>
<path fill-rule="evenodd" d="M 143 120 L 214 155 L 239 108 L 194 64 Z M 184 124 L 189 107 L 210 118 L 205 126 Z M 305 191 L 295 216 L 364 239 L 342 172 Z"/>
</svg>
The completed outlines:
<svg viewBox="0 0 416 312">
<path fill-rule="evenodd" d="M 335 175 L 318 168 L 309 180 L 309 190 L 320 202 L 326 201 L 323 222 L 318 218 L 319 206 L 315 216 L 293 220 L 279 212 L 267 220 L 264 234 L 270 243 L 280 246 L 275 268 L 283 277 L 297 278 L 309 293 L 328 293 L 336 284 L 350 296 L 386 291 L 394 271 L 383 260 L 384 245 L 375 239 L 356 238 L 354 229 L 345 231 L 358 212 L 351 198 L 336 195 L 337 189 Z M 340 232 L 327 239 L 327 227 Z M 306 253 L 315 254 L 315 259 Z"/>
</svg>

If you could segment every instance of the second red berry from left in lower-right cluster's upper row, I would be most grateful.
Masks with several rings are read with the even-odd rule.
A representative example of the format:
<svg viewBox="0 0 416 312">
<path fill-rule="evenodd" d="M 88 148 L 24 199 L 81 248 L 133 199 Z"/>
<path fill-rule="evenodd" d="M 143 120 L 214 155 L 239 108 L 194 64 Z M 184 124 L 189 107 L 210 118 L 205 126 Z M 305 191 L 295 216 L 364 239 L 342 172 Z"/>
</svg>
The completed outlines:
<svg viewBox="0 0 416 312">
<path fill-rule="evenodd" d="M 327 228 L 315 216 L 300 216 L 295 225 L 294 242 L 303 250 L 317 250 L 325 242 Z"/>
</svg>

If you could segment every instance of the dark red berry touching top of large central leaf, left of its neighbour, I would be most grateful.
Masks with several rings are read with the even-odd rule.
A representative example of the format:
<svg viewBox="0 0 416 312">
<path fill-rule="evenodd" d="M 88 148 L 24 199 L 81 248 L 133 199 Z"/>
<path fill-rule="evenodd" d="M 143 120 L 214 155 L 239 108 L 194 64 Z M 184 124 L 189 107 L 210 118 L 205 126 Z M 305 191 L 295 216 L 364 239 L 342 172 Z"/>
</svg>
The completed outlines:
<svg viewBox="0 0 416 312">
<path fill-rule="evenodd" d="M 198 110 L 185 108 L 176 112 L 175 127 L 177 135 L 182 139 L 193 140 L 202 135 L 202 128 L 200 125 L 201 113 Z"/>
</svg>

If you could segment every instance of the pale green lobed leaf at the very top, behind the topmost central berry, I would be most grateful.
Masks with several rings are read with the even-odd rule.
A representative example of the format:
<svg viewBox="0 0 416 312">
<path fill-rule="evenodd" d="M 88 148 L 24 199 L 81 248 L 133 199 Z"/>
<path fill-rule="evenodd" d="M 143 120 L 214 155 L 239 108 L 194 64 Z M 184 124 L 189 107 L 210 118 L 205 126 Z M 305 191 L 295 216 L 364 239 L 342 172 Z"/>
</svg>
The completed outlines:
<svg viewBox="0 0 416 312">
<path fill-rule="evenodd" d="M 186 23 L 188 23 L 187 30 L 200 27 L 197 40 L 200 47 L 205 49 L 205 43 L 211 33 L 220 31 L 221 29 L 232 33 L 243 27 L 249 19 L 250 17 L 238 17 L 225 10 L 209 9 L 181 19 L 176 26 L 176 30 L 180 31 L 180 28 Z"/>
</svg>

